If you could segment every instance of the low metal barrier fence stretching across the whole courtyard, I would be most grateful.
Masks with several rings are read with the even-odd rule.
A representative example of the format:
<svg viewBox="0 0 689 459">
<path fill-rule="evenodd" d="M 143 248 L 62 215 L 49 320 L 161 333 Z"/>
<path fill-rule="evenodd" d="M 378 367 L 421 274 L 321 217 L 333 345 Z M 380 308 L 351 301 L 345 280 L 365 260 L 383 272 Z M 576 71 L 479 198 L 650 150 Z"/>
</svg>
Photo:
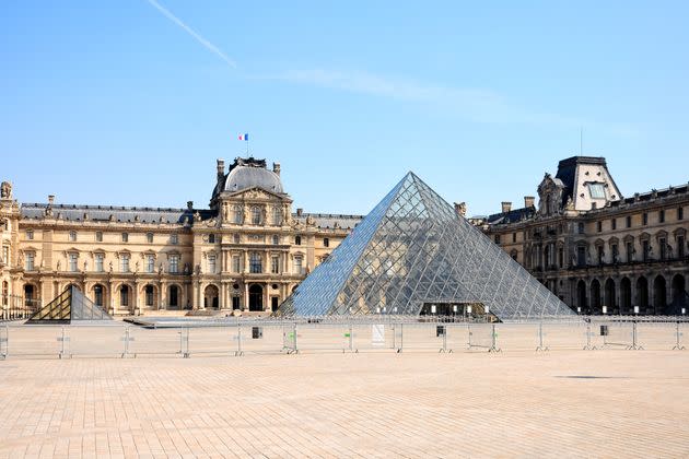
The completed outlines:
<svg viewBox="0 0 689 459">
<path fill-rule="evenodd" d="M 604 320 L 446 322 L 419 320 L 234 320 L 203 327 L 126 322 L 0 326 L 0 357 L 192 357 L 199 355 L 685 350 L 689 322 Z"/>
</svg>

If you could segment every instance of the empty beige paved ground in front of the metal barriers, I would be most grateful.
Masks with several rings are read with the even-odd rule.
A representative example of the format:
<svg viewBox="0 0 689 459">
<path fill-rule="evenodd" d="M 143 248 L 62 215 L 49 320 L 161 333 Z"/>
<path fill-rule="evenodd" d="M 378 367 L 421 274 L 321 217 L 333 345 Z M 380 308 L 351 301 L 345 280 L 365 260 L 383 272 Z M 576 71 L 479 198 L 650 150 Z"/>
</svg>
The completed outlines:
<svg viewBox="0 0 689 459">
<path fill-rule="evenodd" d="M 687 457 L 689 351 L 0 362 L 0 457 Z"/>
</svg>

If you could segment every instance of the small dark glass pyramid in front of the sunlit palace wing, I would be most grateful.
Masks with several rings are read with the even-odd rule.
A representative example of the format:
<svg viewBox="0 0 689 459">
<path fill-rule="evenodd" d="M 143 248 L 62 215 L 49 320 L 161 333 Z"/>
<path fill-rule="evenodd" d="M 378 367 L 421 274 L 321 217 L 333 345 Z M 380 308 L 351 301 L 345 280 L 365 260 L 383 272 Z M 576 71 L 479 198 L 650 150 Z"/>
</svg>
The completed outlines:
<svg viewBox="0 0 689 459">
<path fill-rule="evenodd" d="M 113 317 L 70 285 L 31 316 L 26 323 L 70 323 L 74 320 L 113 320 Z"/>
</svg>

